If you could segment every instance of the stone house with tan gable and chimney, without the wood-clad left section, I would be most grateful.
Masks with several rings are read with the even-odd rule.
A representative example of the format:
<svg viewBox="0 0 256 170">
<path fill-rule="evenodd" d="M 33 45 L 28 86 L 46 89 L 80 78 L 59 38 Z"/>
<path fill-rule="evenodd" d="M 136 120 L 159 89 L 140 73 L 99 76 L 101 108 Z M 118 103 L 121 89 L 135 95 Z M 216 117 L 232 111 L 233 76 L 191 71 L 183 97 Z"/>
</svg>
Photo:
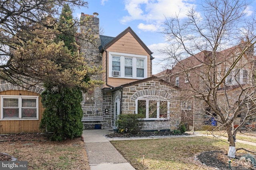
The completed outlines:
<svg viewBox="0 0 256 170">
<path fill-rule="evenodd" d="M 81 20 L 88 17 L 82 13 Z M 103 74 L 96 78 L 106 82 L 102 88 L 84 94 L 84 117 L 104 119 L 103 127 L 116 126 L 120 114 L 144 114 L 144 130 L 176 129 L 180 115 L 176 100 L 178 91 L 163 80 L 152 76 L 152 52 L 128 27 L 116 37 L 99 35 L 99 18 L 80 28 L 98 35 L 98 46 L 80 42 L 90 65 L 102 66 Z M 154 108 L 153 108 L 154 106 Z M 85 128 L 93 128 L 95 123 Z"/>
</svg>

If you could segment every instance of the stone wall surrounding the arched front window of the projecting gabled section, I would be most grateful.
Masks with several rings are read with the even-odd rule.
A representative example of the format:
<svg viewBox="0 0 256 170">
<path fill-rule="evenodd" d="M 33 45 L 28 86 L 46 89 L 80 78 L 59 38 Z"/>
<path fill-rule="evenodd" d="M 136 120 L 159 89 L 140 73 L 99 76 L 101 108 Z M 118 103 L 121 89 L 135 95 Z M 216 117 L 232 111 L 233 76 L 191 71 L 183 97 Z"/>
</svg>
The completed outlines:
<svg viewBox="0 0 256 170">
<path fill-rule="evenodd" d="M 168 120 L 146 120 L 144 121 L 143 130 L 177 129 L 181 121 L 180 102 L 176 99 L 177 93 L 177 90 L 158 81 L 142 82 L 134 86 L 123 88 L 121 114 L 135 114 L 136 99 L 141 96 L 150 96 L 150 98 L 161 96 L 170 102 L 170 117 L 168 117 Z"/>
</svg>

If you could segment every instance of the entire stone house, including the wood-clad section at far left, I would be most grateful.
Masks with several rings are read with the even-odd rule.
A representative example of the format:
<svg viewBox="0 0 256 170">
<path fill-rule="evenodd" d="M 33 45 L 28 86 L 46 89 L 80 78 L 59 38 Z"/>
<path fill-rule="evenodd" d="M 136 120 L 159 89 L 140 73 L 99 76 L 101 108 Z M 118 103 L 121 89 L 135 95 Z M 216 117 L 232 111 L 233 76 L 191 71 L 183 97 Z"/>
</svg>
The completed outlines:
<svg viewBox="0 0 256 170">
<path fill-rule="evenodd" d="M 96 14 L 96 13 L 95 13 Z M 176 129 L 180 124 L 178 90 L 152 76 L 152 52 L 128 27 L 116 37 L 99 35 L 97 15 L 85 15 L 90 21 L 80 27 L 80 34 L 90 31 L 95 43 L 79 41 L 80 53 L 90 66 L 102 66 L 103 73 L 93 75 L 105 84 L 83 94 L 81 103 L 84 128 L 116 125 L 120 114 L 144 114 L 144 130 Z M 44 108 L 40 94 L 43 86 L 21 88 L 0 81 L 0 134 L 40 133 Z M 154 106 L 154 107 L 153 107 Z"/>
</svg>

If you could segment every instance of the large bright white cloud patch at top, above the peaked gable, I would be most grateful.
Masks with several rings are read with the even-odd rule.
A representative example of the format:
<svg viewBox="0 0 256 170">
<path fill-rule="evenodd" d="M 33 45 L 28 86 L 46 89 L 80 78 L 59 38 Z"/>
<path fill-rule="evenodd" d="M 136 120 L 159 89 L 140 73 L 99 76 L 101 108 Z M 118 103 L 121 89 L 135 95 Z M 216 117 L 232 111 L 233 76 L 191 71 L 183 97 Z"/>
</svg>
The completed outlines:
<svg viewBox="0 0 256 170">
<path fill-rule="evenodd" d="M 125 10 L 129 13 L 124 16 L 121 23 L 125 24 L 134 20 L 142 20 L 138 27 L 144 31 L 154 31 L 150 27 L 160 27 L 165 17 L 173 17 L 179 14 L 180 18 L 186 16 L 188 8 L 192 8 L 191 0 L 125 0 Z"/>
</svg>

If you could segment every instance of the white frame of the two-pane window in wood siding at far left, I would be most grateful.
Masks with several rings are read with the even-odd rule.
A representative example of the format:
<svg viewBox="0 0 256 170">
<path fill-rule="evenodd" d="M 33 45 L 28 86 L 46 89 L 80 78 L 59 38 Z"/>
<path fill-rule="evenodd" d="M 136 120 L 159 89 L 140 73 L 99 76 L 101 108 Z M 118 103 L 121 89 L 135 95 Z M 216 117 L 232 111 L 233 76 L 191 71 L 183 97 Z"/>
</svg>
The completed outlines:
<svg viewBox="0 0 256 170">
<path fill-rule="evenodd" d="M 15 118 L 4 118 L 4 108 L 3 108 L 3 99 L 4 98 L 18 98 L 18 109 L 19 117 Z M 22 118 L 22 99 L 36 99 L 36 118 Z M 34 107 L 33 107 L 34 108 Z M 1 119 L 0 120 L 38 120 L 38 96 L 8 96 L 1 95 Z"/>
</svg>

